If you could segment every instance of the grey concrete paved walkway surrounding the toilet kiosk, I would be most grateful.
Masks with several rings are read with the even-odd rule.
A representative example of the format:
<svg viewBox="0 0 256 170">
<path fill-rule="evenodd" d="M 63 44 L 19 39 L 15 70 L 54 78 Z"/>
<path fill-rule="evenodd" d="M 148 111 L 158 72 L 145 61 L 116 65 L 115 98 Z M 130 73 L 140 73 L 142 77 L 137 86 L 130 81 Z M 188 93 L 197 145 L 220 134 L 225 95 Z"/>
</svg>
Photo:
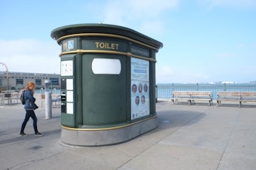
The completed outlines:
<svg viewBox="0 0 256 170">
<path fill-rule="evenodd" d="M 70 147 L 60 141 L 59 108 L 36 110 L 20 137 L 23 105 L 0 108 L 0 169 L 256 169 L 256 107 L 158 102 L 159 127 L 122 144 Z"/>
</svg>

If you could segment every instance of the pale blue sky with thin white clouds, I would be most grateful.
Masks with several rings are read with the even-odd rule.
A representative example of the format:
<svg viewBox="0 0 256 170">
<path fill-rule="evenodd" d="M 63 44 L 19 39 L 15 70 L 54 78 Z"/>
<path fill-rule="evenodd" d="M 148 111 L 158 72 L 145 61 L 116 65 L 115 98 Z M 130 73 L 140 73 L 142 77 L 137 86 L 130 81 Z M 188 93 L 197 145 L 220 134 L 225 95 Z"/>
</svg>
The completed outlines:
<svg viewBox="0 0 256 170">
<path fill-rule="evenodd" d="M 3 0 L 0 62 L 8 71 L 60 74 L 50 32 L 80 23 L 124 26 L 162 42 L 157 83 L 256 80 L 256 0 Z"/>
</svg>

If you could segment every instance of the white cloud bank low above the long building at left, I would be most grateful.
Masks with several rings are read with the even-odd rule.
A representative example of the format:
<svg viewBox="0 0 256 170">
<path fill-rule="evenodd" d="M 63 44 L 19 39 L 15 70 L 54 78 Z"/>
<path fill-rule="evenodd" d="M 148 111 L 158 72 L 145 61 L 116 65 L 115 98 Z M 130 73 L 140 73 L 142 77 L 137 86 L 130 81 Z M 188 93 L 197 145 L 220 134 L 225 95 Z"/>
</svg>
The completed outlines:
<svg viewBox="0 0 256 170">
<path fill-rule="evenodd" d="M 0 40 L 0 47 L 0 62 L 8 71 L 59 74 L 60 47 L 54 41 Z"/>
</svg>

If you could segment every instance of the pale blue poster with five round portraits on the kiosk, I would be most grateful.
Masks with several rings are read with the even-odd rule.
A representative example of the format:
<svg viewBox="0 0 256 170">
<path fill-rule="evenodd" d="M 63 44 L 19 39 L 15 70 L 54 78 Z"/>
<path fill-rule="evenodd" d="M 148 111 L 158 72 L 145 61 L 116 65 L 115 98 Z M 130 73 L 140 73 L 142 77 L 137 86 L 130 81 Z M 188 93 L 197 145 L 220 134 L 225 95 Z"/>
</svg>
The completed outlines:
<svg viewBox="0 0 256 170">
<path fill-rule="evenodd" d="M 150 114 L 149 61 L 131 58 L 131 119 Z"/>
</svg>

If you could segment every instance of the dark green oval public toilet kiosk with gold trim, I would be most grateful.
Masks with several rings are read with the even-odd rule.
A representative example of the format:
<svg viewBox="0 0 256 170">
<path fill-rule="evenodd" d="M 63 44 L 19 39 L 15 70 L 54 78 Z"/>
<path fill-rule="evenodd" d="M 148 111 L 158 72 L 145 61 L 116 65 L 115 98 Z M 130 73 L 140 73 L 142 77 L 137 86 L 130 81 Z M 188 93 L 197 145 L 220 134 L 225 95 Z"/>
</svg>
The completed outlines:
<svg viewBox="0 0 256 170">
<path fill-rule="evenodd" d="M 133 29 L 75 24 L 51 32 L 61 46 L 61 141 L 117 144 L 157 128 L 156 53 Z"/>
</svg>

